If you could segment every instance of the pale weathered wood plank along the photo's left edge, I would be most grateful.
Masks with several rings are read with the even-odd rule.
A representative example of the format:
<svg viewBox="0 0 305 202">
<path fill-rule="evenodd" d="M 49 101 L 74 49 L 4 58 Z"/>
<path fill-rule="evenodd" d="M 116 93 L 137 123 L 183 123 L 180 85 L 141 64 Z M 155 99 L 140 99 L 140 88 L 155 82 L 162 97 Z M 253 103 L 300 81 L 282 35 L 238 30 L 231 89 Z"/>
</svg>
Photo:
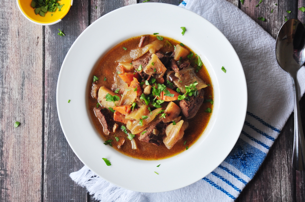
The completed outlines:
<svg viewBox="0 0 305 202">
<path fill-rule="evenodd" d="M 1 4 L 0 201 L 40 201 L 42 28 L 16 1 Z"/>
</svg>

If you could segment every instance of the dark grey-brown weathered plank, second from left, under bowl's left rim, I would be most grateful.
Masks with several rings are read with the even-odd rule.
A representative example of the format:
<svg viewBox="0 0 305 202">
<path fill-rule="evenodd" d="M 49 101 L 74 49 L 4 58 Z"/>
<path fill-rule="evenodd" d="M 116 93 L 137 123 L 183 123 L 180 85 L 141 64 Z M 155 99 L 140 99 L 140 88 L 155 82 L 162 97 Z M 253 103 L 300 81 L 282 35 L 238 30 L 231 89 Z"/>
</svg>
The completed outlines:
<svg viewBox="0 0 305 202">
<path fill-rule="evenodd" d="M 45 158 L 44 201 L 87 201 L 85 188 L 69 174 L 83 164 L 64 137 L 56 109 L 56 85 L 60 67 L 69 48 L 88 26 L 88 0 L 74 1 L 60 23 L 45 26 Z M 58 29 L 66 34 L 57 35 Z"/>
</svg>

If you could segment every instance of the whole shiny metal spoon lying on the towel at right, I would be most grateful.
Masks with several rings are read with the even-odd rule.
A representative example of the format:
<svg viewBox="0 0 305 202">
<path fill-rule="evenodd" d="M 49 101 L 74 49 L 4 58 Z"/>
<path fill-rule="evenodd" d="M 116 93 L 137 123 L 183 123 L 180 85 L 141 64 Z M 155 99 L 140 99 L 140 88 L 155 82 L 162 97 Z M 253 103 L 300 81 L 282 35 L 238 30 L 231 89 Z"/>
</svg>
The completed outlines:
<svg viewBox="0 0 305 202">
<path fill-rule="evenodd" d="M 296 170 L 303 170 L 305 169 L 305 140 L 300 117 L 299 94 L 296 80 L 296 72 L 305 62 L 305 27 L 300 20 L 290 19 L 282 25 L 276 38 L 275 54 L 278 64 L 291 76 L 294 95 L 292 166 Z"/>
</svg>

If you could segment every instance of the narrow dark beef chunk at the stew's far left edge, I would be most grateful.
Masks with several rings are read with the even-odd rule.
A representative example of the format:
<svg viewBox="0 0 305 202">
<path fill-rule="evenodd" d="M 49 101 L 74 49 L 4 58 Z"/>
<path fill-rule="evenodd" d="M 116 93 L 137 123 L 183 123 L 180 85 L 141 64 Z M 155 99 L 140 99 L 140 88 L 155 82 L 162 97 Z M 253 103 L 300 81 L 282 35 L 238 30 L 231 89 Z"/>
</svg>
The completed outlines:
<svg viewBox="0 0 305 202">
<path fill-rule="evenodd" d="M 115 124 L 113 120 L 113 114 L 108 111 L 104 110 L 100 107 L 95 107 L 94 109 L 95 116 L 99 119 L 99 122 L 103 126 L 103 131 L 105 135 L 109 135 L 110 132 L 113 130 L 113 126 Z"/>
</svg>

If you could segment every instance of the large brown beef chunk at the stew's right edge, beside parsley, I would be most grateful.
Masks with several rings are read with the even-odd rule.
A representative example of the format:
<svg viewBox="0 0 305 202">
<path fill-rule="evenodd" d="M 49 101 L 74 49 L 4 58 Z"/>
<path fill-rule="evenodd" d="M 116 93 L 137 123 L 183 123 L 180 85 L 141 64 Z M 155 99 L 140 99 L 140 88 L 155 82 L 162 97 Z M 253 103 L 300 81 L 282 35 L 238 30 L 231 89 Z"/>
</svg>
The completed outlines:
<svg viewBox="0 0 305 202">
<path fill-rule="evenodd" d="M 199 89 L 198 90 L 198 96 L 190 96 L 189 101 L 183 99 L 179 101 L 179 106 L 181 108 L 181 112 L 185 116 L 185 118 L 190 119 L 193 118 L 197 111 L 199 110 L 199 107 L 203 103 L 203 95 L 204 95 L 204 90 Z"/>
</svg>

